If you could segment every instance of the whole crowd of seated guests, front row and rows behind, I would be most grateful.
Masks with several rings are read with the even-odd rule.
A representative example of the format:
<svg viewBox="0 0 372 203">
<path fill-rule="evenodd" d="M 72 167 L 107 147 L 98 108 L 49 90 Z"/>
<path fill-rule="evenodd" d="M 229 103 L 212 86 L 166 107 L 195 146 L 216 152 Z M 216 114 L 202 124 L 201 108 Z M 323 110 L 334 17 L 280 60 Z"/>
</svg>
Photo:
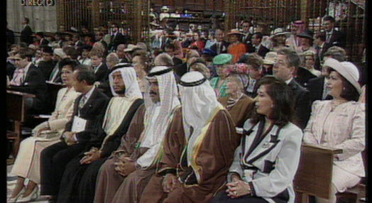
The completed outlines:
<svg viewBox="0 0 372 203">
<path fill-rule="evenodd" d="M 52 116 L 21 142 L 8 202 L 295 202 L 302 143 L 342 149 L 330 199 L 315 198 L 336 202 L 366 175 L 360 70 L 303 21 L 249 24 L 11 45 L 7 89 Z"/>
</svg>

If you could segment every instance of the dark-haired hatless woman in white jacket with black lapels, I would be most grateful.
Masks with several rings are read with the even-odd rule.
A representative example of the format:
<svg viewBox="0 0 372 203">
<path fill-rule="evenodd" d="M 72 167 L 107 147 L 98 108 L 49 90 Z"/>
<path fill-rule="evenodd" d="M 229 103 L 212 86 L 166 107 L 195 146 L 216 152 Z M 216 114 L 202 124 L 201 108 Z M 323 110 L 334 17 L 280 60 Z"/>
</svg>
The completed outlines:
<svg viewBox="0 0 372 203">
<path fill-rule="evenodd" d="M 212 202 L 294 202 L 292 181 L 300 160 L 302 131 L 292 124 L 292 92 L 281 79 L 260 80 L 256 112 L 244 124 L 227 189 Z"/>
</svg>

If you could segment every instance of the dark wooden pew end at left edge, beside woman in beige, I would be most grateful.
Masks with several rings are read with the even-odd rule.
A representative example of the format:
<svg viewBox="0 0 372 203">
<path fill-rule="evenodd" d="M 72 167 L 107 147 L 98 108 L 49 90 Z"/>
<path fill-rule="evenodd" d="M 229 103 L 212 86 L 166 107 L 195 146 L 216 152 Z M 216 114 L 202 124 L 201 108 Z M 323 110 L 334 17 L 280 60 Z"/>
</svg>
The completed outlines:
<svg viewBox="0 0 372 203">
<path fill-rule="evenodd" d="M 22 124 L 28 119 L 26 99 L 34 94 L 6 90 L 6 116 L 13 121 L 13 131 L 6 132 L 8 140 L 14 140 L 13 157 L 16 158 L 21 143 Z"/>
</svg>

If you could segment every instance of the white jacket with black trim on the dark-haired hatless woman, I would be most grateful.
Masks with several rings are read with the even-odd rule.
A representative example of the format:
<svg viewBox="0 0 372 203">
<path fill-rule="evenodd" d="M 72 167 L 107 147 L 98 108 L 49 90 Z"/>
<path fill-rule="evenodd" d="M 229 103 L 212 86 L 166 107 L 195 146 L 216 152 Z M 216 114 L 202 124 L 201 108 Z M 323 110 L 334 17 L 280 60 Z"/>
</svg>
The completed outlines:
<svg viewBox="0 0 372 203">
<path fill-rule="evenodd" d="M 246 138 L 244 152 L 242 152 L 244 142 L 241 142 L 235 150 L 234 162 L 229 169 L 229 181 L 232 172 L 237 172 L 244 181 L 252 182 L 256 196 L 263 197 L 268 202 L 273 202 L 270 197 L 275 197 L 280 192 L 288 190 L 290 196 L 288 202 L 295 202 L 292 182 L 300 161 L 301 129 L 292 123 L 288 123 L 280 131 L 278 131 L 278 126 L 273 126 L 251 155 L 244 158 L 258 131 L 258 124 L 253 128 L 251 127 L 252 124 L 248 119 L 244 124 L 244 131 L 251 129 L 251 133 L 249 136 L 243 135 L 241 138 L 241 141 L 244 140 L 244 137 Z M 262 153 L 266 154 L 262 155 Z M 258 170 L 249 176 L 249 174 L 252 174 L 252 170 L 244 170 L 242 168 L 244 165 L 251 165 Z"/>
</svg>

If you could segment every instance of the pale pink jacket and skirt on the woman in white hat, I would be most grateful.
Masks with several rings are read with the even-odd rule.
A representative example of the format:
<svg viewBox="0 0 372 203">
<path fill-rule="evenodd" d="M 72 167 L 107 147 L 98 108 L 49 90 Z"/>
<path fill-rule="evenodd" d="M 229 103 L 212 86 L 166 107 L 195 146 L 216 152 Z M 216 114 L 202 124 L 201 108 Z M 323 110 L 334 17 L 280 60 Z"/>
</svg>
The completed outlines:
<svg viewBox="0 0 372 203">
<path fill-rule="evenodd" d="M 314 101 L 304 130 L 305 143 L 342 149 L 335 155 L 332 182 L 339 192 L 366 175 L 361 152 L 366 144 L 366 109 L 348 101 L 332 109 L 331 101 Z"/>
</svg>

